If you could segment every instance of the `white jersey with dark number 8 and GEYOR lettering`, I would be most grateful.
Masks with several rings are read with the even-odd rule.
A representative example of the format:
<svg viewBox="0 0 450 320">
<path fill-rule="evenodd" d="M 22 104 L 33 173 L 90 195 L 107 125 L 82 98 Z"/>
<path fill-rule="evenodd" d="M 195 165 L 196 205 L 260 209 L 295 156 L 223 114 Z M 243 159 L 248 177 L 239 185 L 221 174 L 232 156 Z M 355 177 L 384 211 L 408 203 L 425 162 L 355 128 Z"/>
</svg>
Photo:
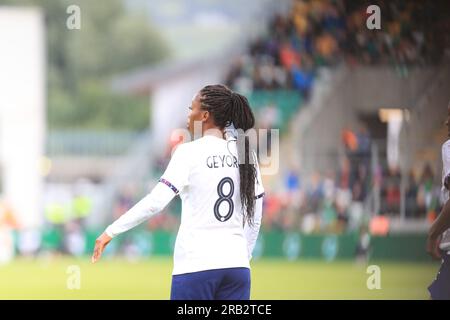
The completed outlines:
<svg viewBox="0 0 450 320">
<path fill-rule="evenodd" d="M 264 188 L 256 168 L 260 198 Z M 206 135 L 179 145 L 160 182 L 182 200 L 173 274 L 250 267 L 236 142 Z"/>
</svg>

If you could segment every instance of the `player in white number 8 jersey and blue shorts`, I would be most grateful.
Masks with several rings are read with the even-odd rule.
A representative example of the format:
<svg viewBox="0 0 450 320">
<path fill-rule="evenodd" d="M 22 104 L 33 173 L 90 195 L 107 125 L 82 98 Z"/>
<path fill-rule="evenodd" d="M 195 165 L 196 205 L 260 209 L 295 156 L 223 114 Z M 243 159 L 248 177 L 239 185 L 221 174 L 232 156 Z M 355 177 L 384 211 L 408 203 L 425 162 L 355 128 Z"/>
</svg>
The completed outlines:
<svg viewBox="0 0 450 320">
<path fill-rule="evenodd" d="M 256 154 L 242 134 L 255 118 L 247 99 L 224 85 L 200 90 L 189 108 L 188 128 L 202 137 L 179 145 L 155 188 L 106 228 L 95 243 L 98 261 L 111 239 L 182 200 L 174 250 L 171 299 L 250 298 L 251 254 L 262 217 L 264 189 Z M 253 160 L 251 160 L 253 159 Z"/>
</svg>

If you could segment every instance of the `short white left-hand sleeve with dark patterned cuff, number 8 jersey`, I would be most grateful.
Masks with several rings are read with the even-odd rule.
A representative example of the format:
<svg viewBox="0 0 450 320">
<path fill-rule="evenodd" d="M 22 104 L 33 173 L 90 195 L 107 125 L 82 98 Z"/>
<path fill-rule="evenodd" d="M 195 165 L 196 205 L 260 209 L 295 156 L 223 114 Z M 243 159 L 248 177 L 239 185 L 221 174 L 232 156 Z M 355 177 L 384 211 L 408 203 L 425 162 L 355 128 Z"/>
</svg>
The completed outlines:
<svg viewBox="0 0 450 320">
<path fill-rule="evenodd" d="M 159 182 L 165 184 L 175 194 L 180 193 L 189 183 L 189 159 L 191 156 L 188 154 L 186 145 L 179 145 Z"/>
</svg>

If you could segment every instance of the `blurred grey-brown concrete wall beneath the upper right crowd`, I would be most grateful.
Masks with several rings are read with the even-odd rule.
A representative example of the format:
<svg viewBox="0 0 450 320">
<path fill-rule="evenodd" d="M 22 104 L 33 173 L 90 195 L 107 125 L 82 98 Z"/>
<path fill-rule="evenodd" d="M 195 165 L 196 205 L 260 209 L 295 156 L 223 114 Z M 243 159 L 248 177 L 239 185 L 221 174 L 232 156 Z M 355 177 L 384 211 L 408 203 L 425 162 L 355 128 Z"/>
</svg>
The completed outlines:
<svg viewBox="0 0 450 320">
<path fill-rule="evenodd" d="M 408 110 L 405 118 L 409 119 L 400 136 L 401 162 L 411 168 L 417 162 L 415 155 L 426 152 L 420 150 L 435 148 L 430 139 L 445 119 L 449 84 L 448 65 L 414 67 L 406 77 L 388 66 L 322 70 L 311 100 L 293 117 L 285 143 L 294 151 L 302 175 L 335 168 L 338 155 L 344 152 L 344 128 L 356 128 L 360 115 L 376 115 L 382 107 L 402 108 Z"/>
</svg>

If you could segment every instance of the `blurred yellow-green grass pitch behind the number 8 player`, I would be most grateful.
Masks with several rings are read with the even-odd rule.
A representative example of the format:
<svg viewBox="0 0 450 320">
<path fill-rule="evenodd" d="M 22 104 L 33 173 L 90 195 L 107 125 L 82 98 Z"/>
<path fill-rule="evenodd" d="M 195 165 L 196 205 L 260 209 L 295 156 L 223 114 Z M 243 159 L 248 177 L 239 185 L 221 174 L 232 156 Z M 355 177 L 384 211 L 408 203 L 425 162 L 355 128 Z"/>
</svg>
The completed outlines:
<svg viewBox="0 0 450 320">
<path fill-rule="evenodd" d="M 369 290 L 367 265 L 354 261 L 252 262 L 252 299 L 428 299 L 439 263 L 379 262 L 381 289 Z M 78 266 L 80 288 L 69 266 Z M 171 258 L 17 259 L 0 266 L 0 299 L 168 299 Z M 71 282 L 72 281 L 72 282 Z"/>
</svg>

